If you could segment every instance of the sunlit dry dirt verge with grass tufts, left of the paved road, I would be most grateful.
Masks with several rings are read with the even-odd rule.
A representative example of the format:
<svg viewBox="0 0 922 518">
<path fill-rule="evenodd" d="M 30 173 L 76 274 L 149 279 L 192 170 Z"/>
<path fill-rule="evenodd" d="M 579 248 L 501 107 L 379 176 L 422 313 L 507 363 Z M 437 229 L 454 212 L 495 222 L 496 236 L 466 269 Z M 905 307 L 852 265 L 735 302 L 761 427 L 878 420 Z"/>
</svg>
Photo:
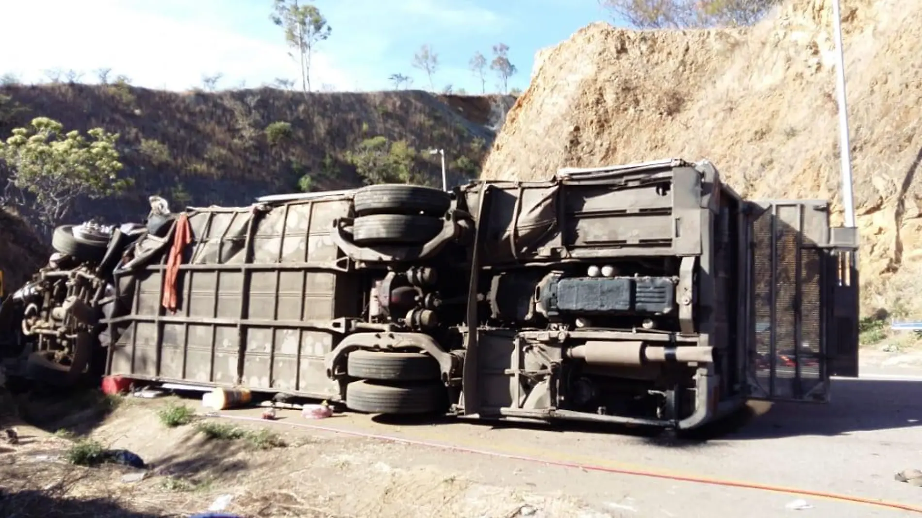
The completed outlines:
<svg viewBox="0 0 922 518">
<path fill-rule="evenodd" d="M 0 450 L 0 494 L 5 495 L 0 515 L 188 516 L 230 495 L 225 512 L 253 517 L 612 516 L 562 494 L 475 482 L 439 465 L 438 455 L 429 465 L 396 467 L 389 459 L 405 456 L 408 447 L 395 451 L 381 441 L 271 425 L 271 431 L 244 439 L 207 439 L 195 423 L 176 428 L 161 423 L 158 409 L 176 400 L 84 395 L 77 406 L 89 410 L 75 416 L 64 410 L 74 407 L 73 401 L 49 405 L 31 398 L 33 414 L 39 413 L 37 405 L 45 405 L 41 426 L 20 422 L 19 444 Z M 195 400 L 182 403 L 201 410 Z M 281 420 L 301 420 L 295 411 L 282 414 Z M 8 426 L 15 417 L 6 419 Z M 105 447 L 137 453 L 148 464 L 147 476 L 128 482 L 123 477 L 134 468 L 69 465 L 68 452 L 81 438 L 57 431 L 61 425 L 89 432 Z M 262 423 L 228 426 L 266 429 Z"/>
</svg>

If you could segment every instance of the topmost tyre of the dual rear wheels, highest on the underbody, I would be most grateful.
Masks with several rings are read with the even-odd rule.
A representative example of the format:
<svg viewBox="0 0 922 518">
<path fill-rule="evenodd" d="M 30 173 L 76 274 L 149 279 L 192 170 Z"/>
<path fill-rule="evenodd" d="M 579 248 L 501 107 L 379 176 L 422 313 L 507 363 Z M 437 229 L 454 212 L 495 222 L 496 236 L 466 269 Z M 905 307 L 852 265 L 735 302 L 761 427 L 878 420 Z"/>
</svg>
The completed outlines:
<svg viewBox="0 0 922 518">
<path fill-rule="evenodd" d="M 442 216 L 451 199 L 450 194 L 432 187 L 384 183 L 356 191 L 352 205 L 357 216 L 420 213 Z"/>
</svg>

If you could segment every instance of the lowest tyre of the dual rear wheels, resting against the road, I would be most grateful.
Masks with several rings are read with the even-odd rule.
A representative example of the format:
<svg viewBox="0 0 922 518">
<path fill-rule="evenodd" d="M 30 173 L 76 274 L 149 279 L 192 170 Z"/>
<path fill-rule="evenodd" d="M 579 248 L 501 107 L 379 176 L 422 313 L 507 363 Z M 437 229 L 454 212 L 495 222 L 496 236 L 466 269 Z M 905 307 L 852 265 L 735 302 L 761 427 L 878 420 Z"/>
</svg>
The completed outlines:
<svg viewBox="0 0 922 518">
<path fill-rule="evenodd" d="M 382 384 L 365 380 L 346 387 L 346 406 L 369 414 L 429 414 L 446 410 L 442 383 Z"/>
</svg>

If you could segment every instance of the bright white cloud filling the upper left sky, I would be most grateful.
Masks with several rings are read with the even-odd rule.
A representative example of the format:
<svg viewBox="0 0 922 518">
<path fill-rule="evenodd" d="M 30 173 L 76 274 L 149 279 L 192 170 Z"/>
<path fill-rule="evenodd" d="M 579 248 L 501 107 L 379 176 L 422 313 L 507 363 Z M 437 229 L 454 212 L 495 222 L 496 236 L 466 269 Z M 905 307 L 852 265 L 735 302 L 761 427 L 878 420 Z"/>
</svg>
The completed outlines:
<svg viewBox="0 0 922 518">
<path fill-rule="evenodd" d="M 7 2 L 4 18 L 21 22 L 7 22 L 0 31 L 0 48 L 6 49 L 0 57 L 0 74 L 11 72 L 25 81 L 37 81 L 44 70 L 75 69 L 86 72 L 83 80 L 89 81 L 94 80 L 92 70 L 111 67 L 113 76 L 124 74 L 135 85 L 169 89 L 195 87 L 201 84 L 203 75 L 215 73 L 224 77 L 219 86 L 236 85 L 242 80 L 249 86 L 258 86 L 276 77 L 298 77 L 298 65 L 281 41 L 242 34 L 239 27 L 246 24 L 228 16 L 239 11 L 222 8 L 249 2 L 199 0 L 214 8 L 172 10 L 181 16 L 171 16 L 170 9 L 164 13 L 163 6 L 181 6 L 171 0 L 153 4 L 158 12 L 146 10 L 142 3 L 132 3 Z M 265 15 L 249 21 L 266 24 L 271 30 L 267 10 L 259 12 Z M 330 84 L 350 89 L 364 79 L 361 74 L 357 76 L 335 65 L 323 52 L 313 55 L 311 76 L 316 88 Z"/>
</svg>

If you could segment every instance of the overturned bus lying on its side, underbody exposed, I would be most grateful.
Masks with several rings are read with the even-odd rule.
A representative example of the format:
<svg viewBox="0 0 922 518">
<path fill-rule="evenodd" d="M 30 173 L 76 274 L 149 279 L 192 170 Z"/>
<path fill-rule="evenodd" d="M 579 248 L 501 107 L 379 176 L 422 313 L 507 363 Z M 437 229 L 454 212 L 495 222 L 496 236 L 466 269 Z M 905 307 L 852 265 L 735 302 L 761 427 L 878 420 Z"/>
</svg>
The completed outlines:
<svg viewBox="0 0 922 518">
<path fill-rule="evenodd" d="M 857 376 L 857 237 L 709 162 L 399 184 L 55 231 L 0 310 L 7 371 L 368 413 L 694 429 Z"/>
</svg>

